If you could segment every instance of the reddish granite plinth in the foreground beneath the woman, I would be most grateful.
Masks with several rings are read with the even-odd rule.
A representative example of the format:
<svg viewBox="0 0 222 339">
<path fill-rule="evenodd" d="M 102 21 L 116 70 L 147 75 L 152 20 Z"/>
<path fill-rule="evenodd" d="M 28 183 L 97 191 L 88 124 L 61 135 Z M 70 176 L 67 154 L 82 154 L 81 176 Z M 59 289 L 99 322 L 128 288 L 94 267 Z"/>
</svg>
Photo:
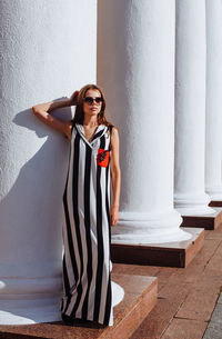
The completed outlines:
<svg viewBox="0 0 222 339">
<path fill-rule="evenodd" d="M 114 267 L 114 265 L 113 265 Z M 90 322 L 67 326 L 62 321 L 20 326 L 0 326 L 1 339 L 127 339 L 157 303 L 158 279 L 113 273 L 112 281 L 124 289 L 124 299 L 114 307 L 114 325 L 99 327 Z"/>
</svg>

